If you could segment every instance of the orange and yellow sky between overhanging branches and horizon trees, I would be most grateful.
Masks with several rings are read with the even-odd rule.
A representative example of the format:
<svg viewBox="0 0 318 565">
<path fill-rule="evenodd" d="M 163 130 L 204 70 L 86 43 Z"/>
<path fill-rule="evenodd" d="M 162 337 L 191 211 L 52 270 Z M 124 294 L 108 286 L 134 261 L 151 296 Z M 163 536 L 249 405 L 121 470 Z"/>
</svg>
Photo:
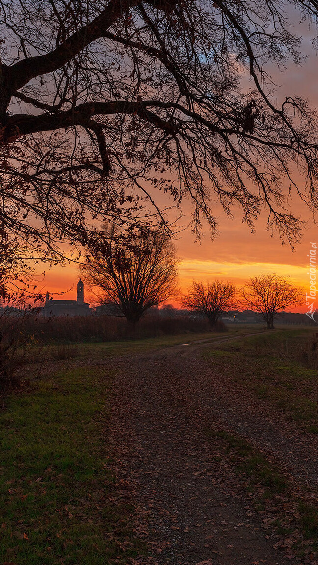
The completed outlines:
<svg viewBox="0 0 318 565">
<path fill-rule="evenodd" d="M 296 285 L 308 290 L 307 254 L 311 242 L 317 241 L 318 245 L 317 228 L 304 231 L 303 242 L 292 251 L 289 246 L 282 246 L 277 237 L 269 236 L 263 219 L 257 223 L 254 234 L 239 218 L 222 218 L 220 227 L 222 231 L 216 240 L 210 241 L 206 234 L 201 244 L 194 241 L 190 230 L 179 236 L 176 244 L 181 260 L 179 277 L 183 291 L 192 279 L 227 279 L 240 287 L 250 276 L 273 271 L 290 276 Z M 46 272 L 40 286 L 52 293 L 70 289 L 66 297 L 71 299 L 76 296 L 78 278 L 75 265 L 54 267 Z M 88 299 L 88 294 L 85 299 Z M 297 311 L 306 311 L 306 306 L 298 307 Z"/>
</svg>

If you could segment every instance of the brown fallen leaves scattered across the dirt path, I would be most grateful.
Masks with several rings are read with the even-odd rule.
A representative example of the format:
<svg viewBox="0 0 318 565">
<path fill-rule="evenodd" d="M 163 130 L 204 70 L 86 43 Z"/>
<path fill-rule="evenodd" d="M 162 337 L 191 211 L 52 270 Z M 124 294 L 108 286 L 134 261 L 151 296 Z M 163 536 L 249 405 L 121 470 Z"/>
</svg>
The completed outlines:
<svg viewBox="0 0 318 565">
<path fill-rule="evenodd" d="M 226 563 L 233 559 L 243 565 L 314 565 L 315 540 L 306 540 L 299 530 L 299 500 L 318 507 L 315 492 L 293 478 L 289 459 L 284 466 L 272 450 L 257 451 L 253 440 L 239 446 L 240 454 L 229 438 L 216 432 L 231 429 L 226 426 L 230 414 L 231 421 L 261 434 L 257 418 L 256 423 L 250 419 L 253 410 L 259 422 L 273 424 L 272 440 L 283 437 L 291 457 L 293 440 L 300 445 L 301 438 L 291 428 L 288 434 L 279 416 L 267 420 L 262 401 L 257 405 L 248 391 L 244 396 L 240 386 L 229 385 L 231 376 L 217 374 L 198 358 L 168 353 L 114 362 L 114 503 L 133 506 L 135 534 L 150 551 L 127 563 L 216 565 L 226 558 Z M 286 490 L 268 496 L 262 468 L 256 465 L 253 480 L 244 471 L 248 458 L 259 453 L 286 481 Z M 301 560 L 298 551 L 303 552 Z"/>
</svg>

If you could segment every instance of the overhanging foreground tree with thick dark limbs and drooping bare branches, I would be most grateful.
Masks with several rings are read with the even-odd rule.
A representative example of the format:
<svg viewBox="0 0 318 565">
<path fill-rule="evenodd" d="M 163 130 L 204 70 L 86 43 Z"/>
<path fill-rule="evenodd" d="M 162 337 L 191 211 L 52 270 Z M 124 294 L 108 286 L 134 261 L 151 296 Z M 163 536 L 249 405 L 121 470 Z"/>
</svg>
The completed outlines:
<svg viewBox="0 0 318 565">
<path fill-rule="evenodd" d="M 216 231 L 216 201 L 251 227 L 265 204 L 297 239 L 283 188 L 316 210 L 318 124 L 272 93 L 269 66 L 301 59 L 289 5 L 315 17 L 313 0 L 1 0 L 5 239 L 60 260 L 101 219 L 165 223 L 159 190 L 163 208 L 191 199 L 197 231 Z"/>
</svg>

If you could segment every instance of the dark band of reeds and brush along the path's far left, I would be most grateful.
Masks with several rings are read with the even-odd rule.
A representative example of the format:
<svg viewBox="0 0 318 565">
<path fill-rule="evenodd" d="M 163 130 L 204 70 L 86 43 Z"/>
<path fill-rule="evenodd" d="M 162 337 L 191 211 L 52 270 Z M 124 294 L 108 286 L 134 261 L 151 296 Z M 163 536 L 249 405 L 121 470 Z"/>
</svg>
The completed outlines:
<svg viewBox="0 0 318 565">
<path fill-rule="evenodd" d="M 34 374 L 36 370 L 40 375 L 48 360 L 85 357 L 94 352 L 98 355 L 114 349 L 114 344 L 119 345 L 119 350 L 136 344 L 139 350 L 147 344 L 152 347 L 156 340 L 160 347 L 174 344 L 175 338 L 177 342 L 187 340 L 187 336 L 199 339 L 218 336 L 227 330 L 220 322 L 211 334 L 206 320 L 162 316 L 157 312 L 149 312 L 137 327 L 116 316 L 46 319 L 29 311 L 23 315 L 5 314 L 0 315 L 0 394 L 18 386 L 26 367 L 35 363 L 31 371 Z"/>
</svg>

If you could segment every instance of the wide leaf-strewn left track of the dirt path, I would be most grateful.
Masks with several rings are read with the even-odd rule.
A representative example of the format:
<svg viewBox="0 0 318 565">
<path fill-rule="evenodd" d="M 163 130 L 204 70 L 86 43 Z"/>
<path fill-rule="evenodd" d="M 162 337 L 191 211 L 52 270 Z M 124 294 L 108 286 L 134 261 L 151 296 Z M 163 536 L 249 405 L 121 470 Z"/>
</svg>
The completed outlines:
<svg viewBox="0 0 318 565">
<path fill-rule="evenodd" d="M 196 358 L 202 346 L 170 347 L 115 361 L 119 376 L 111 443 L 119 484 L 138 507 L 136 533 L 153 550 L 152 559 L 137 563 L 300 563 L 274 550 L 276 540 L 264 535 L 248 501 L 232 486 L 230 473 L 220 472 L 203 426 L 222 420 L 237 429 L 247 422 L 244 417 L 239 424 L 239 412 L 234 417 L 222 387 L 216 397 L 220 383 L 211 383 L 207 366 Z M 243 432 L 249 435 L 250 427 Z M 282 442 L 275 432 L 265 433 L 263 443 L 270 437 L 267 447 L 275 444 L 279 450 Z M 255 440 L 262 437 L 260 433 Z M 287 449 L 285 436 L 283 445 Z"/>
</svg>

